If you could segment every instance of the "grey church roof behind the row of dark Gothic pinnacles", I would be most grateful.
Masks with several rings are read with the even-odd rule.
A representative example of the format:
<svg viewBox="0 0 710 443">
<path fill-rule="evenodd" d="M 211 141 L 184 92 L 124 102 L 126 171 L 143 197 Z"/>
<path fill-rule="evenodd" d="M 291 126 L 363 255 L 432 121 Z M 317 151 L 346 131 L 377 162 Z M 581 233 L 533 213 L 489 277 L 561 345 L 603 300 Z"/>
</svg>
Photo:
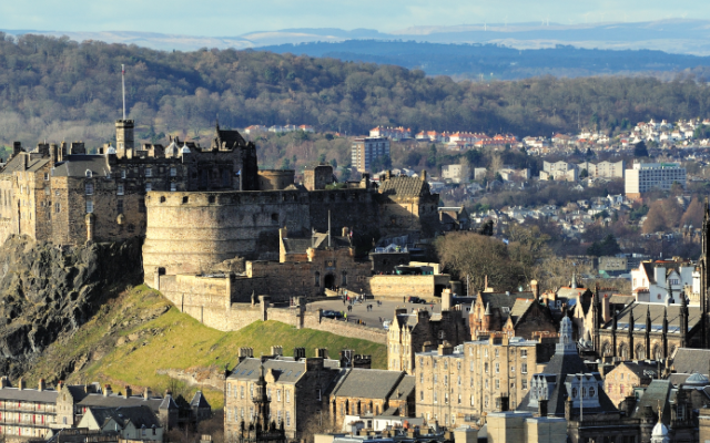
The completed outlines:
<svg viewBox="0 0 710 443">
<path fill-rule="evenodd" d="M 660 305 L 660 303 L 639 303 L 633 302 L 623 308 L 617 317 L 617 330 L 625 331 L 629 328 L 629 313 L 633 309 L 633 330 L 646 330 L 646 311 L 651 313 L 651 332 L 661 332 L 663 327 L 663 311 L 668 310 L 668 333 L 680 334 L 680 305 Z M 688 330 L 692 329 L 700 321 L 700 307 L 688 307 Z M 610 320 L 604 326 L 604 329 L 611 329 Z M 706 365 L 707 368 L 707 365 Z M 702 371 L 704 371 L 703 369 Z M 701 372 L 702 372 L 701 371 Z"/>
</svg>

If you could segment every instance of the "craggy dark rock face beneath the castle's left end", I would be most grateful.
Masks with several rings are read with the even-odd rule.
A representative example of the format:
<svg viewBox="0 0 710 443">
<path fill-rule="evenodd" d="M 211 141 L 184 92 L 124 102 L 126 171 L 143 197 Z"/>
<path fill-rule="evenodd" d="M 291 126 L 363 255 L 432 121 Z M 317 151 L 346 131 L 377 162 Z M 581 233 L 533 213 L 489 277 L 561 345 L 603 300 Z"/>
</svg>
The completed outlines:
<svg viewBox="0 0 710 443">
<path fill-rule="evenodd" d="M 141 268 L 140 239 L 58 248 L 8 238 L 0 247 L 0 374 L 24 372 L 88 321 L 116 285 L 140 282 Z"/>
</svg>

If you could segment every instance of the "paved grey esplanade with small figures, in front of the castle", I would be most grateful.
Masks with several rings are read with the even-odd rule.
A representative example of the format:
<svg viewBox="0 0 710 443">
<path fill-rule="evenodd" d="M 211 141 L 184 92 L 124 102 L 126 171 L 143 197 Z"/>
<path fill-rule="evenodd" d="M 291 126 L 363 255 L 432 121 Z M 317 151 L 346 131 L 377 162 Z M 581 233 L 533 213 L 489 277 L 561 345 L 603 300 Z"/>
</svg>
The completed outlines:
<svg viewBox="0 0 710 443">
<path fill-rule="evenodd" d="M 408 297 L 407 297 L 408 298 Z M 427 305 L 419 305 L 419 303 L 403 303 L 403 300 L 381 300 L 382 305 L 377 305 L 377 300 L 373 300 L 373 299 L 368 299 L 361 302 L 355 302 L 355 305 L 353 305 L 353 310 L 352 311 L 347 311 L 347 306 L 348 303 L 346 302 L 346 305 L 343 305 L 343 300 L 341 299 L 332 299 L 332 300 L 324 300 L 324 301 L 315 301 L 315 302 L 311 302 L 308 303 L 308 311 L 315 311 L 318 308 L 322 308 L 323 310 L 333 310 L 333 311 L 338 311 L 338 312 L 347 312 L 347 319 L 349 321 L 355 321 L 355 320 L 363 320 L 367 326 L 371 326 L 373 328 L 382 328 L 382 321 L 379 321 L 379 318 L 382 318 L 382 320 L 392 320 L 394 315 L 395 315 L 395 308 L 399 307 L 406 307 L 407 311 L 412 312 L 412 308 L 414 308 L 415 310 L 417 309 L 427 309 L 429 312 L 432 312 L 432 303 L 427 303 Z M 367 305 L 372 305 L 372 310 L 367 310 Z M 440 312 L 442 311 L 442 306 L 437 302 L 435 302 L 434 305 L 434 312 Z"/>
</svg>

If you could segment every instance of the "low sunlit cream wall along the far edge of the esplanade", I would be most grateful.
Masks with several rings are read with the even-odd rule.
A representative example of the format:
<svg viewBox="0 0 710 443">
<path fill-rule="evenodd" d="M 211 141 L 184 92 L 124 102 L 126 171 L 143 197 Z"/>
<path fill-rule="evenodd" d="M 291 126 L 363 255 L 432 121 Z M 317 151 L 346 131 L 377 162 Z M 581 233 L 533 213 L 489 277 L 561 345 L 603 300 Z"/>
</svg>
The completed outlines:
<svg viewBox="0 0 710 443">
<path fill-rule="evenodd" d="M 372 276 L 371 292 L 374 297 L 402 298 L 420 297 L 432 300 L 439 297 L 450 280 L 446 274 L 435 276 Z"/>
</svg>

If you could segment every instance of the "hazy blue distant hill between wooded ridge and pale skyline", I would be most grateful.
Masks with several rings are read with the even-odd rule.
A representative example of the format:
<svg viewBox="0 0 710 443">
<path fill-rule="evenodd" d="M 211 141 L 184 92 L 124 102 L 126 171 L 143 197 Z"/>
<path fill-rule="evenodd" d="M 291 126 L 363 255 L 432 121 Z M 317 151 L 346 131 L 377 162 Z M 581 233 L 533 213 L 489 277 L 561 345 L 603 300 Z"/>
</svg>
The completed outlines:
<svg viewBox="0 0 710 443">
<path fill-rule="evenodd" d="M 710 56 L 656 50 L 598 50 L 558 45 L 515 49 L 499 44 L 445 44 L 415 41 L 347 40 L 262 47 L 275 53 L 331 56 L 343 61 L 396 64 L 428 75 L 515 80 L 539 75 L 588 76 L 680 72 L 710 65 Z"/>
</svg>

